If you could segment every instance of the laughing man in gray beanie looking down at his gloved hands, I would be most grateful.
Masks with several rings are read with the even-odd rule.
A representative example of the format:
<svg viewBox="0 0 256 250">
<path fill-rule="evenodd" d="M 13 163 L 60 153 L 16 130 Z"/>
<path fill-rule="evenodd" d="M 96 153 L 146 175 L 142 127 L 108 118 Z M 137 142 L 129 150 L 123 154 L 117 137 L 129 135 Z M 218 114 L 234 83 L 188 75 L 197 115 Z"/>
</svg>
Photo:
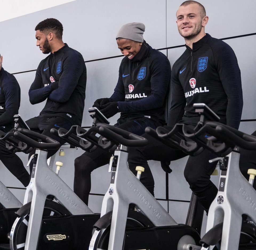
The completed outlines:
<svg viewBox="0 0 256 250">
<path fill-rule="evenodd" d="M 97 99 L 93 105 L 107 118 L 121 112 L 115 126 L 137 135 L 144 134 L 148 126 L 156 128 L 165 123 L 164 109 L 171 76 L 169 60 L 146 43 L 144 31 L 143 23 L 127 23 L 118 31 L 118 49 L 125 57 L 119 67 L 117 85 L 110 98 Z M 111 155 L 97 148 L 75 159 L 74 192 L 86 204 L 91 172 L 108 164 Z M 131 171 L 136 175 L 135 168 Z M 154 186 L 149 179 L 153 180 L 153 177 L 141 178 L 146 188 Z M 154 188 L 149 191 L 154 195 Z"/>
</svg>

